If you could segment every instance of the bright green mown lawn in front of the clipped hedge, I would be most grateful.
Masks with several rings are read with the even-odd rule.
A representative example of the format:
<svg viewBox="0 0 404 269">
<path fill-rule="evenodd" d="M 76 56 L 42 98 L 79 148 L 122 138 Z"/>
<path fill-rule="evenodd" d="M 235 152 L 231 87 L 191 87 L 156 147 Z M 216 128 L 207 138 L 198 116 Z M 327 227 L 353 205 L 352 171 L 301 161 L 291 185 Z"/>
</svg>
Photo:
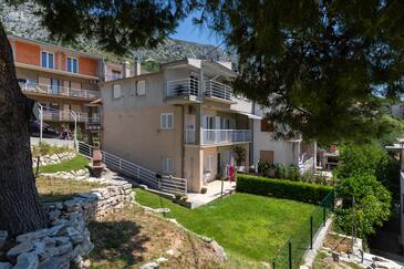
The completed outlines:
<svg viewBox="0 0 404 269">
<path fill-rule="evenodd" d="M 139 204 L 169 208 L 166 217 L 214 238 L 230 256 L 248 261 L 269 262 L 315 208 L 293 200 L 237 193 L 191 210 L 142 189 L 135 192 Z"/>
</svg>

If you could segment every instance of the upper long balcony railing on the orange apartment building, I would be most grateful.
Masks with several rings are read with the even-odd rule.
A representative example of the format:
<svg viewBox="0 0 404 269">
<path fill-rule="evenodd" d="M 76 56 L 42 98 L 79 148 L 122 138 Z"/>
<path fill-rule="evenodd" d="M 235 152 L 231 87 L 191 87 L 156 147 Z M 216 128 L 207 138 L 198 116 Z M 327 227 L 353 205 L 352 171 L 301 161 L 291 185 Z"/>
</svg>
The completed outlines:
<svg viewBox="0 0 404 269">
<path fill-rule="evenodd" d="M 80 99 L 99 99 L 100 92 L 82 89 L 70 89 L 65 86 L 55 86 L 41 83 L 23 83 L 20 82 L 20 87 L 23 92 L 43 93 L 49 95 L 60 95 L 68 97 Z"/>
</svg>

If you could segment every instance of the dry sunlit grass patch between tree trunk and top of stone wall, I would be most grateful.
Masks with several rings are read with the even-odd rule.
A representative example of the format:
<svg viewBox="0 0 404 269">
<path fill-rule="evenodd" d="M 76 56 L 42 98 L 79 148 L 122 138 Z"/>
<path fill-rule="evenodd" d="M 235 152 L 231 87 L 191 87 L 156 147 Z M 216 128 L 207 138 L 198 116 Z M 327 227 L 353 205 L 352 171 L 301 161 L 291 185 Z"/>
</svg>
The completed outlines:
<svg viewBox="0 0 404 269">
<path fill-rule="evenodd" d="M 74 179 L 55 177 L 37 177 L 37 188 L 43 203 L 63 201 L 72 198 L 75 194 L 87 193 L 92 188 L 103 187 L 99 183 L 89 183 Z"/>
</svg>

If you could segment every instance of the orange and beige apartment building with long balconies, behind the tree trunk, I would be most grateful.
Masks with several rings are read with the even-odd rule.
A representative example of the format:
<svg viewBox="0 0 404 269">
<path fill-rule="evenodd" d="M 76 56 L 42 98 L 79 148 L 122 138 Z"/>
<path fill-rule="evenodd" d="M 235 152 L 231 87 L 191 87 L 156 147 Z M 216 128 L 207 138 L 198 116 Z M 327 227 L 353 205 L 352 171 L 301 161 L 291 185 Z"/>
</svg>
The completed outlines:
<svg viewBox="0 0 404 269">
<path fill-rule="evenodd" d="M 128 62 L 9 35 L 22 92 L 43 106 L 43 121 L 61 131 L 76 120 L 87 142 L 101 139 L 100 82 L 133 75 Z M 83 137 L 84 138 L 84 137 Z"/>
</svg>

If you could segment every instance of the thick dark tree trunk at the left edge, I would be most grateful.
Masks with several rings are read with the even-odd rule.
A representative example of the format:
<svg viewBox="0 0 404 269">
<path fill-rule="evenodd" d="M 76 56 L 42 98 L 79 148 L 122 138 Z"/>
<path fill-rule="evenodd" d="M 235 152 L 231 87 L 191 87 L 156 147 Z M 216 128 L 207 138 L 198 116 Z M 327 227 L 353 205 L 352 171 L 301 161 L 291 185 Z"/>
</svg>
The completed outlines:
<svg viewBox="0 0 404 269">
<path fill-rule="evenodd" d="M 46 226 L 32 172 L 28 134 L 32 105 L 21 93 L 11 45 L 0 23 L 0 230 L 11 236 Z"/>
</svg>

